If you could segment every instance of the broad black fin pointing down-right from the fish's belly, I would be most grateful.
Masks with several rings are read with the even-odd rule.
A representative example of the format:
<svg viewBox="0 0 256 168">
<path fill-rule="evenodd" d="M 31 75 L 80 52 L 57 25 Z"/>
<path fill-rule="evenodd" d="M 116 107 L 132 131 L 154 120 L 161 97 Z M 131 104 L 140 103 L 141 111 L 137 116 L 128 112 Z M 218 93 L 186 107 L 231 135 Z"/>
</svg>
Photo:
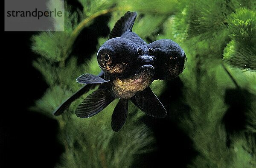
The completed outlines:
<svg viewBox="0 0 256 168">
<path fill-rule="evenodd" d="M 163 104 L 158 100 L 150 87 L 138 92 L 131 98 L 131 101 L 149 116 L 164 118 L 167 115 Z"/>
</svg>

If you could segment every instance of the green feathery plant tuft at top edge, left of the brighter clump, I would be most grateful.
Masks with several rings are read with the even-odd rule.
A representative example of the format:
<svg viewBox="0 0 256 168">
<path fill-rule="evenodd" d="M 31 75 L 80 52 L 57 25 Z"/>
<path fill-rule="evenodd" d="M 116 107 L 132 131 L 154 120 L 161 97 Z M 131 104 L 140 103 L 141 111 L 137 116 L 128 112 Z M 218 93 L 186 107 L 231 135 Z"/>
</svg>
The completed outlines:
<svg viewBox="0 0 256 168">
<path fill-rule="evenodd" d="M 190 1 L 186 9 L 189 17 L 188 36 L 200 36 L 203 39 L 218 36 L 225 28 L 225 15 L 230 13 L 224 0 Z"/>
</svg>

